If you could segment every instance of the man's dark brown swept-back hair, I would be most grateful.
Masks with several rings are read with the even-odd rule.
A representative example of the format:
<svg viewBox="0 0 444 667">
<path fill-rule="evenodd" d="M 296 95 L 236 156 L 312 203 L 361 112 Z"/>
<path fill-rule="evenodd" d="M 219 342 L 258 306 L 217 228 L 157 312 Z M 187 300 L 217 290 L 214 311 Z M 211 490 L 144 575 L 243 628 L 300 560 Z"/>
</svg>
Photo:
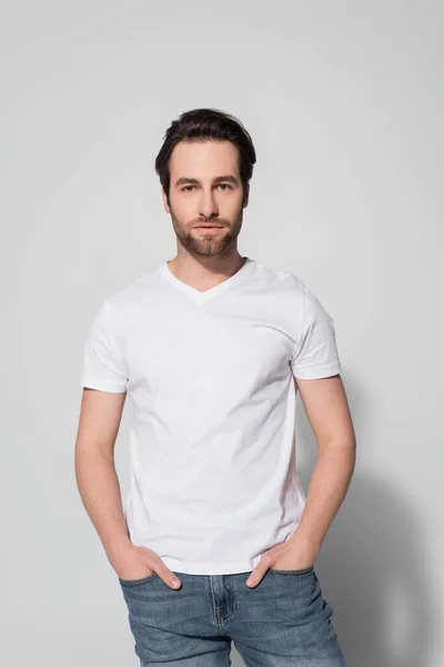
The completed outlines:
<svg viewBox="0 0 444 667">
<path fill-rule="evenodd" d="M 231 141 L 239 150 L 239 171 L 244 198 L 246 183 L 253 176 L 256 153 L 253 141 L 241 121 L 218 109 L 191 109 L 173 120 L 164 135 L 162 148 L 155 158 L 155 172 L 170 197 L 169 161 L 174 147 L 180 141 Z"/>
</svg>

